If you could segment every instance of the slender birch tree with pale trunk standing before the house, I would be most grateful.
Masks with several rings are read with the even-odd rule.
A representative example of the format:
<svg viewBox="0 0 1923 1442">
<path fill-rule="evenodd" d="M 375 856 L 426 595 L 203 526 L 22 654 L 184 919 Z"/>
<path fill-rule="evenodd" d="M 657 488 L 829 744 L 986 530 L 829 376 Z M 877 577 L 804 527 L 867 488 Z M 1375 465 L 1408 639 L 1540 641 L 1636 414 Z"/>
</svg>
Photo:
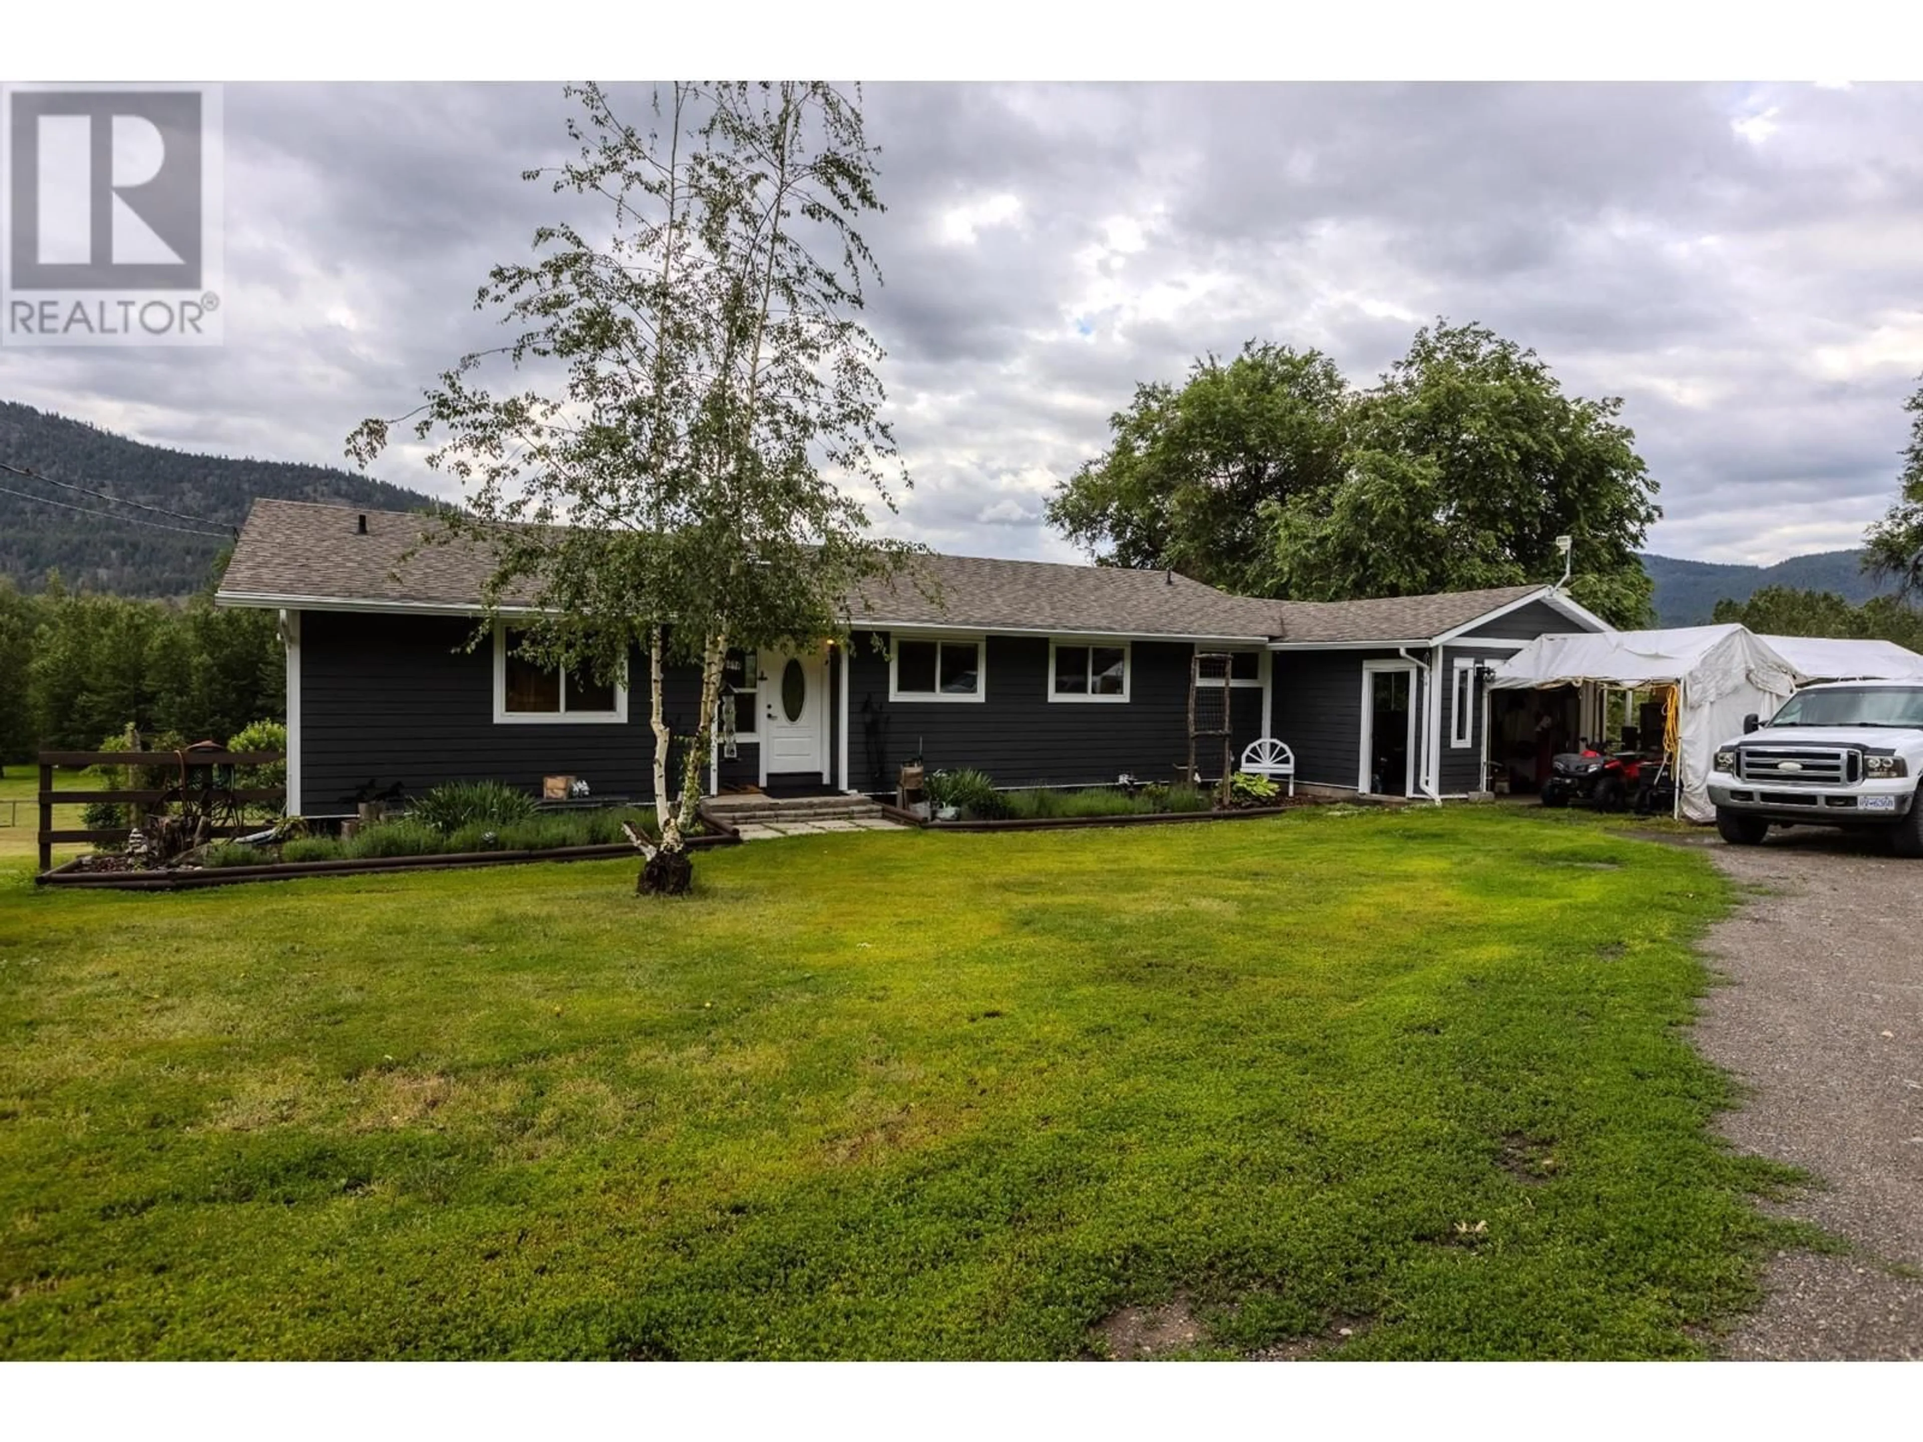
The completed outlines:
<svg viewBox="0 0 1923 1442">
<path fill-rule="evenodd" d="M 850 596 L 913 550 L 863 506 L 908 485 L 862 321 L 877 152 L 860 92 L 823 83 L 665 87 L 646 129 L 598 85 L 569 96 L 577 156 L 529 179 L 598 223 L 556 219 L 535 260 L 490 271 L 477 306 L 512 338 L 406 419 L 463 492 L 433 542 L 492 558 L 473 644 L 512 615 L 521 654 L 604 684 L 646 656 L 660 836 L 640 890 L 681 892 L 729 648 L 846 634 Z M 527 385 L 487 388 L 498 361 Z M 363 421 L 348 452 L 387 438 Z M 700 667 L 681 736 L 673 665 Z"/>
</svg>

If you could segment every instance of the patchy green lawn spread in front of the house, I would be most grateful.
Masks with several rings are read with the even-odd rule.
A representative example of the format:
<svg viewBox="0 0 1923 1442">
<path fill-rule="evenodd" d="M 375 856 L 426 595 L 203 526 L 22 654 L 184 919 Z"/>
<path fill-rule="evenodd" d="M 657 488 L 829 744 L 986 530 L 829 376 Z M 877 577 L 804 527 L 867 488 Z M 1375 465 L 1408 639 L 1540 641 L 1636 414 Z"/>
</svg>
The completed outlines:
<svg viewBox="0 0 1923 1442">
<path fill-rule="evenodd" d="M 1665 1357 L 1781 1181 L 1708 861 L 1494 808 L 0 879 L 0 1355 Z"/>
</svg>

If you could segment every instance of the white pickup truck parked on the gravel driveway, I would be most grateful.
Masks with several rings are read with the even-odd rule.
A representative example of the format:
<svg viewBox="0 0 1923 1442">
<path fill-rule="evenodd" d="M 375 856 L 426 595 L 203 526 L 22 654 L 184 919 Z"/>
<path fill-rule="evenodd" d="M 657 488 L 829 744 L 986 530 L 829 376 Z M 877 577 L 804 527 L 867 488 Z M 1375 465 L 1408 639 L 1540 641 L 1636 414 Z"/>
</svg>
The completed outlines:
<svg viewBox="0 0 1923 1442">
<path fill-rule="evenodd" d="M 1769 827 L 1879 827 L 1923 856 L 1923 681 L 1804 686 L 1767 721 L 1717 748 L 1715 829 L 1756 846 Z"/>
</svg>

